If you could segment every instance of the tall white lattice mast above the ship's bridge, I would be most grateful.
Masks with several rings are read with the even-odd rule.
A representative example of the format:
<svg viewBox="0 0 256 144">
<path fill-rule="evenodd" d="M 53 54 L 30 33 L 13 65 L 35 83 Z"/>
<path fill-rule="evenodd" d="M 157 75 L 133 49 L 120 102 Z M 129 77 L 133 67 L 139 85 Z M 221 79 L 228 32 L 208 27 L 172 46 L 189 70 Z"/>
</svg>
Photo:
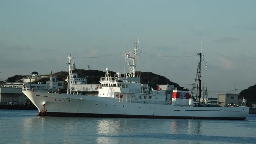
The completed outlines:
<svg viewBox="0 0 256 144">
<path fill-rule="evenodd" d="M 134 54 L 133 55 L 126 54 L 126 57 L 132 60 L 132 63 L 127 62 L 127 65 L 129 66 L 130 72 L 126 76 L 126 78 L 128 78 L 128 77 L 135 77 L 135 68 L 136 68 L 135 61 L 136 61 L 136 59 L 139 59 L 139 56 L 137 54 L 137 50 L 138 50 L 137 49 L 137 44 L 139 44 L 139 37 L 138 37 L 137 42 L 134 42 L 134 44 L 135 44 L 134 45 Z"/>
</svg>

